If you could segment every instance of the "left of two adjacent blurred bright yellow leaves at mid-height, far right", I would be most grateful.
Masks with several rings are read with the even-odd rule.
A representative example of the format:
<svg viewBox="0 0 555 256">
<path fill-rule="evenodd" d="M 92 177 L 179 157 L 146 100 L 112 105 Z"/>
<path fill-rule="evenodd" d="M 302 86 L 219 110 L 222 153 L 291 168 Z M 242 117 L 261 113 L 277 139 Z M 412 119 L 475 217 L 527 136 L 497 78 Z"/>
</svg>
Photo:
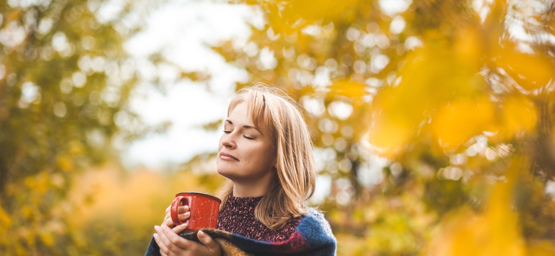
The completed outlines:
<svg viewBox="0 0 555 256">
<path fill-rule="evenodd" d="M 438 109 L 432 130 L 441 147 L 456 147 L 493 125 L 495 109 L 487 98 L 456 100 Z"/>
</svg>

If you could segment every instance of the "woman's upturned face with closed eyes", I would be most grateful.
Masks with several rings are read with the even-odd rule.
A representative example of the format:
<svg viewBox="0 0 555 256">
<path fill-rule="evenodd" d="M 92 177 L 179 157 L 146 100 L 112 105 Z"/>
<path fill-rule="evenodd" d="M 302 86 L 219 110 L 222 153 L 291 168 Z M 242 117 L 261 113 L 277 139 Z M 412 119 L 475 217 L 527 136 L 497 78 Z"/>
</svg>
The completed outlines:
<svg viewBox="0 0 555 256">
<path fill-rule="evenodd" d="M 277 154 L 262 120 L 260 117 L 256 129 L 245 102 L 230 112 L 218 147 L 219 174 L 234 183 L 252 185 L 273 179 Z"/>
</svg>

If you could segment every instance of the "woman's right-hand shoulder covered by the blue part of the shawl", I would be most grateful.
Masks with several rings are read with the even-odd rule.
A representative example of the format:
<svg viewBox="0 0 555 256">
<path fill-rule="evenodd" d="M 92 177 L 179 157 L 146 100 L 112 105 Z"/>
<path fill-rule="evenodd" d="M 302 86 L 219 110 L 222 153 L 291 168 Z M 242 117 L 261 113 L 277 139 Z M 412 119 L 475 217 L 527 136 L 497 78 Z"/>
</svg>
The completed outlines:
<svg viewBox="0 0 555 256">
<path fill-rule="evenodd" d="M 300 221 L 296 231 L 300 232 L 311 248 L 324 247 L 336 250 L 337 239 L 322 212 L 311 208 Z"/>
</svg>

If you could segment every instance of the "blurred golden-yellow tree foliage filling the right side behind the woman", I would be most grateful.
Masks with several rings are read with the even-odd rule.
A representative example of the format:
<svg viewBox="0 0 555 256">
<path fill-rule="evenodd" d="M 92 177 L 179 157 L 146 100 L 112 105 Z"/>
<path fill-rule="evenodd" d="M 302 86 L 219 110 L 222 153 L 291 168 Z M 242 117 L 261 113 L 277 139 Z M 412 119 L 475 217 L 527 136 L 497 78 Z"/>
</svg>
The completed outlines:
<svg viewBox="0 0 555 256">
<path fill-rule="evenodd" d="M 239 2 L 266 25 L 214 50 L 250 74 L 237 87 L 268 82 L 307 111 L 333 180 L 322 207 L 357 244 L 340 253 L 553 252 L 552 1 Z"/>
</svg>

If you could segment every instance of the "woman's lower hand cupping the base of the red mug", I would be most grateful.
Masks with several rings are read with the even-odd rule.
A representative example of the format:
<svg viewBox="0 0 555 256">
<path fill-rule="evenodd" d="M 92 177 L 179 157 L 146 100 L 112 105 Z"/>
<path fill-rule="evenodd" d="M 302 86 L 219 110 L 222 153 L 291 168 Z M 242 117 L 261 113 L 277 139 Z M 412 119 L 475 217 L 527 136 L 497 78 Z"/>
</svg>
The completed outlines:
<svg viewBox="0 0 555 256">
<path fill-rule="evenodd" d="M 177 235 L 185 229 L 185 225 L 170 229 L 168 226 L 154 226 L 156 233 L 153 235 L 156 244 L 160 247 L 162 256 L 188 256 L 205 255 L 220 256 L 220 245 L 205 232 L 198 231 L 197 237 L 200 243 L 191 241 Z"/>
</svg>

